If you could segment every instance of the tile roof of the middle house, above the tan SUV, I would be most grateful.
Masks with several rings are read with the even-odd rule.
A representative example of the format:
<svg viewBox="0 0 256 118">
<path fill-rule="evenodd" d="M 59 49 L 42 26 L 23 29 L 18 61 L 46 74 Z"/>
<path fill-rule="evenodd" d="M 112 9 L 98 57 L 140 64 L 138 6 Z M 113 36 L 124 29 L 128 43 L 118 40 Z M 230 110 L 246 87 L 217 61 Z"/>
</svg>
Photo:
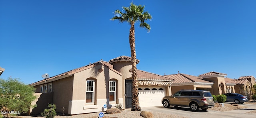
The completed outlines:
<svg viewBox="0 0 256 118">
<path fill-rule="evenodd" d="M 182 73 L 173 74 L 173 75 L 164 75 L 164 76 L 174 79 L 175 81 L 173 83 L 189 83 L 189 82 L 212 83 L 212 82 L 203 80 L 202 77 L 196 77 L 196 76 L 186 75 Z"/>
</svg>

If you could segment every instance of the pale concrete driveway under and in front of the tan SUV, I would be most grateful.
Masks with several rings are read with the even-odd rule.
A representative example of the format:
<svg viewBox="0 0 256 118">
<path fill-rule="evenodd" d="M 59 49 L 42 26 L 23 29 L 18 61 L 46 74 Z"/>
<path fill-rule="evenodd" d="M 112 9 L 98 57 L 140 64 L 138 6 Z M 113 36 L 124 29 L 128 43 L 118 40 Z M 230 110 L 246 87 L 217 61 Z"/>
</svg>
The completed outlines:
<svg viewBox="0 0 256 118">
<path fill-rule="evenodd" d="M 170 114 L 179 114 L 189 118 L 256 118 L 256 114 L 245 114 L 252 110 L 256 110 L 255 104 L 239 104 L 241 106 L 247 106 L 248 108 L 240 110 L 231 110 L 226 112 L 210 110 L 206 111 L 199 110 L 198 112 L 192 112 L 190 108 L 170 106 L 170 108 L 164 108 L 164 106 L 156 107 L 144 107 L 142 110 L 145 111 L 157 111 Z"/>
</svg>

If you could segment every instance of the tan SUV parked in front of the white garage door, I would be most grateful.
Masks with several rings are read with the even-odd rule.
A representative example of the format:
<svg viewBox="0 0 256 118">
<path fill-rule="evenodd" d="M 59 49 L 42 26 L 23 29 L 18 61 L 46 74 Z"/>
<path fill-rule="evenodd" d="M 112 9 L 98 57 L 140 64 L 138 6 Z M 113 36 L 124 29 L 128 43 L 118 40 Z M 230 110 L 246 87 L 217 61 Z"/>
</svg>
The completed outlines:
<svg viewBox="0 0 256 118">
<path fill-rule="evenodd" d="M 169 108 L 170 105 L 190 107 L 192 111 L 214 107 L 212 94 L 206 90 L 180 90 L 171 96 L 164 96 L 162 104 L 165 108 Z"/>
</svg>

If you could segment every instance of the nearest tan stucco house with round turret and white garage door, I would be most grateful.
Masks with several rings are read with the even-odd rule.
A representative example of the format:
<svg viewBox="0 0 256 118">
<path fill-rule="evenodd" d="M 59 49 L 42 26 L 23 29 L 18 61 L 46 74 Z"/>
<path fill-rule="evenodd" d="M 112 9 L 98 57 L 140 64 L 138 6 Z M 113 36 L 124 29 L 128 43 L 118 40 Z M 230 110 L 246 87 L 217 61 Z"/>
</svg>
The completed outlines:
<svg viewBox="0 0 256 118">
<path fill-rule="evenodd" d="M 106 110 L 104 104 L 108 108 L 116 104 L 131 108 L 131 68 L 131 57 L 120 56 L 32 83 L 38 105 L 30 110 L 31 114 L 43 112 L 48 103 L 56 104 L 56 112 L 64 109 L 65 114 L 102 112 Z M 172 94 L 173 79 L 140 70 L 137 75 L 141 107 L 162 105 L 162 97 Z"/>
</svg>

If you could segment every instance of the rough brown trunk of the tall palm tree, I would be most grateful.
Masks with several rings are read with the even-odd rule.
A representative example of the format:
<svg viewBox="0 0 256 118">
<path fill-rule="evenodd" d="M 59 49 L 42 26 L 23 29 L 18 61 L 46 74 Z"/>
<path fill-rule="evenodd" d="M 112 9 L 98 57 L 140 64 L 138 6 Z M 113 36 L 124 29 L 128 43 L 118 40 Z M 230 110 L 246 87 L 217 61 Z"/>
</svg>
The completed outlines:
<svg viewBox="0 0 256 118">
<path fill-rule="evenodd" d="M 131 24 L 129 43 L 132 57 L 132 111 L 140 111 L 140 103 L 138 97 L 137 68 L 136 68 L 136 51 L 135 51 L 135 29 L 134 23 Z"/>
</svg>

